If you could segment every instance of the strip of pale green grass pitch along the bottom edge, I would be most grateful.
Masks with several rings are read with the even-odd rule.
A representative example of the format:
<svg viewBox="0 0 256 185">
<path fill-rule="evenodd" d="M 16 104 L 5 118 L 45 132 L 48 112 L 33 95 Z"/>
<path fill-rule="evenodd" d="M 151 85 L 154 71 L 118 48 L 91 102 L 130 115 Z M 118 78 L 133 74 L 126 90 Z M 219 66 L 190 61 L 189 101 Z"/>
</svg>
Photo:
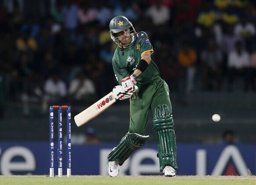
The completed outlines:
<svg viewBox="0 0 256 185">
<path fill-rule="evenodd" d="M 256 176 L 0 176 L 0 185 L 256 185 Z"/>
</svg>

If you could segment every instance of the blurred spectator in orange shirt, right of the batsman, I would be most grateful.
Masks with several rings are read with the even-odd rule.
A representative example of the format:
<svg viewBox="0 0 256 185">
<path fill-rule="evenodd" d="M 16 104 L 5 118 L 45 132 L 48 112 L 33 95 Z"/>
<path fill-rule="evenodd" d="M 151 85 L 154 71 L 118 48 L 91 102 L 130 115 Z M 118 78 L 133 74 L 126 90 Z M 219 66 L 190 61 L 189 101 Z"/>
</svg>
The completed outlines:
<svg viewBox="0 0 256 185">
<path fill-rule="evenodd" d="M 184 43 L 183 49 L 180 50 L 178 53 L 178 61 L 183 67 L 183 76 L 185 78 L 185 92 L 189 94 L 194 88 L 197 53 L 195 50 L 190 48 L 187 43 Z"/>
</svg>

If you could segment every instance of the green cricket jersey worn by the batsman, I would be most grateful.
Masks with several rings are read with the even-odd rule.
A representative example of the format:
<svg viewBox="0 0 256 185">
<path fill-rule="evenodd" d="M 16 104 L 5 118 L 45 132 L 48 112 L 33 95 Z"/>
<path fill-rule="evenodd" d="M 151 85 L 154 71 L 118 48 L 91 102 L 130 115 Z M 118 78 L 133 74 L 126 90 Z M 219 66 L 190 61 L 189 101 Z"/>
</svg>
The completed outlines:
<svg viewBox="0 0 256 185">
<path fill-rule="evenodd" d="M 113 55 L 112 64 L 115 76 L 119 85 L 121 80 L 130 76 L 135 71 L 143 53 L 150 51 L 154 52 L 153 47 L 145 32 L 137 32 L 136 38 L 132 44 L 126 48 L 117 46 Z M 146 70 L 136 78 L 138 86 L 145 85 L 159 79 L 159 69 L 155 63 L 154 57 L 151 56 L 151 62 Z"/>
</svg>

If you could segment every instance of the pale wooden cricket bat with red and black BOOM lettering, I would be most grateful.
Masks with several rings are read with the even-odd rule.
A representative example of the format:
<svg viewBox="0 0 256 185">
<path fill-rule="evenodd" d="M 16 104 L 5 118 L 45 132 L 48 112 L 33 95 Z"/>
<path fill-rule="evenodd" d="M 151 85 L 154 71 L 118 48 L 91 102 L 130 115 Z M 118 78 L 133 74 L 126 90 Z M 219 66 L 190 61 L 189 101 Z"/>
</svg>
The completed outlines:
<svg viewBox="0 0 256 185">
<path fill-rule="evenodd" d="M 75 123 L 78 127 L 81 125 L 86 124 L 88 121 L 92 120 L 96 116 L 98 116 L 100 113 L 102 113 L 104 110 L 106 110 L 108 107 L 110 107 L 113 103 L 115 103 L 117 100 L 113 96 L 113 92 L 110 92 L 106 96 L 104 96 L 102 99 L 85 109 L 84 111 L 77 114 L 74 119 Z"/>
</svg>

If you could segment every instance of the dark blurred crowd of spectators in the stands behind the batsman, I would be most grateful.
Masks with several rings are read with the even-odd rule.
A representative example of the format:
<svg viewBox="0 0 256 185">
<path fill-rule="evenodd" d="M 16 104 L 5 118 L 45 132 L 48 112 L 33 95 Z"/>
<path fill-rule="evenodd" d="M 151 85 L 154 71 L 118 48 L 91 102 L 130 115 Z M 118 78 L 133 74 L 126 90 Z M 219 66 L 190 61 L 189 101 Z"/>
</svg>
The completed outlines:
<svg viewBox="0 0 256 185">
<path fill-rule="evenodd" d="M 29 114 L 29 103 L 47 110 L 111 91 L 117 15 L 149 35 L 171 91 L 256 91 L 253 0 L 2 0 L 0 101 Z"/>
</svg>

